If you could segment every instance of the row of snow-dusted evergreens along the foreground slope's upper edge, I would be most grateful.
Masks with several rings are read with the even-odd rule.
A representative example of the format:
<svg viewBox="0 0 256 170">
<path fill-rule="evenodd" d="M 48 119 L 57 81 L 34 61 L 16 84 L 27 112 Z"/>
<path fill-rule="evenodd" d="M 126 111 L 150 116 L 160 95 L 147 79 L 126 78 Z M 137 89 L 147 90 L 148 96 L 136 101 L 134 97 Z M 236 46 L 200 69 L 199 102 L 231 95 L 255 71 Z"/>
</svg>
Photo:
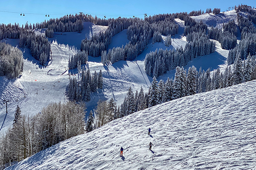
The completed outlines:
<svg viewBox="0 0 256 170">
<path fill-rule="evenodd" d="M 256 79 L 256 57 L 251 55 L 248 55 L 244 61 L 241 57 L 237 57 L 234 65 L 232 67 L 227 65 L 223 72 L 219 68 L 213 73 L 210 73 L 210 69 L 202 71 L 200 68 L 197 71 L 194 66 L 186 71 L 183 67 L 177 66 L 174 79 L 168 78 L 166 82 L 163 80 L 157 82 L 154 77 L 145 94 L 141 88 L 140 93 L 136 91 L 134 95 L 130 87 L 120 106 L 120 111 L 118 109 L 116 114 L 120 118 L 180 97 L 225 88 L 254 79 Z"/>
</svg>

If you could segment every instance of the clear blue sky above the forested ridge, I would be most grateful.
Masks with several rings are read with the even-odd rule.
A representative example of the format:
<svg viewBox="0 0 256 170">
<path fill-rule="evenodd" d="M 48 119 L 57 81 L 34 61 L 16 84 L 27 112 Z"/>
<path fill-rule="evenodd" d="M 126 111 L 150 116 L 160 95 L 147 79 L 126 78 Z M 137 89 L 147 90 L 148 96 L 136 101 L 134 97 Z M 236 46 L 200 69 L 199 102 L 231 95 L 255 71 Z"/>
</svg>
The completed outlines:
<svg viewBox="0 0 256 170">
<path fill-rule="evenodd" d="M 206 8 L 221 8 L 238 4 L 256 6 L 255 0 L 0 0 L 0 23 L 41 23 L 64 14 L 84 12 L 103 18 L 144 17 L 143 14 L 164 14 Z M 6 11 L 6 12 L 4 12 Z M 16 13 L 12 13 L 16 12 Z M 24 13 L 25 16 L 20 16 Z M 45 17 L 45 15 L 50 17 Z"/>
</svg>

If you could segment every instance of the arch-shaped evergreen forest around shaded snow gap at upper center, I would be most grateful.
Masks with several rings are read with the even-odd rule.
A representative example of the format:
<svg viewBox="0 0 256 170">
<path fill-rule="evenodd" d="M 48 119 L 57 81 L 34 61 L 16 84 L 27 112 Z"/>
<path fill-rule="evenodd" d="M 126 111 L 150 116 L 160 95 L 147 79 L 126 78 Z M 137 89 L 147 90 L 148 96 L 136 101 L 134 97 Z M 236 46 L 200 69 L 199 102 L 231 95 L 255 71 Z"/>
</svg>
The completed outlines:
<svg viewBox="0 0 256 170">
<path fill-rule="evenodd" d="M 89 39 L 82 40 L 81 50 L 88 51 L 88 55 L 99 57 L 108 49 L 112 37 L 127 29 L 127 38 L 129 43 L 123 47 L 125 49 L 124 60 L 133 60 L 145 49 L 148 41 L 154 34 L 174 35 L 177 34 L 178 26 L 175 23 L 175 14 L 159 14 L 146 17 L 145 20 L 140 18 L 117 18 L 108 23 L 108 29 L 105 33 L 93 35 Z M 160 38 L 158 38 L 157 41 Z M 107 51 L 108 52 L 108 51 Z M 121 55 L 119 55 L 121 56 Z M 121 59 L 112 59 L 119 61 Z"/>
</svg>

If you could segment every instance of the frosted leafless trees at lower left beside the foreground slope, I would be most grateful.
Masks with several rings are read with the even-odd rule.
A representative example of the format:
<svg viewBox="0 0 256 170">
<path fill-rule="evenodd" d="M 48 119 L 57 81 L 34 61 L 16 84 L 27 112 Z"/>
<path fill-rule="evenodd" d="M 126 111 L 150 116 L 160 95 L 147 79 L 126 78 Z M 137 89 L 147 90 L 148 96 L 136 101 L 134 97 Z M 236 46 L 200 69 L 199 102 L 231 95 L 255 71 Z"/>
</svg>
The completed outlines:
<svg viewBox="0 0 256 170">
<path fill-rule="evenodd" d="M 0 137 L 0 168 L 84 133 L 84 110 L 74 102 L 51 103 L 35 116 L 25 116 L 17 106 L 13 126 Z"/>
</svg>

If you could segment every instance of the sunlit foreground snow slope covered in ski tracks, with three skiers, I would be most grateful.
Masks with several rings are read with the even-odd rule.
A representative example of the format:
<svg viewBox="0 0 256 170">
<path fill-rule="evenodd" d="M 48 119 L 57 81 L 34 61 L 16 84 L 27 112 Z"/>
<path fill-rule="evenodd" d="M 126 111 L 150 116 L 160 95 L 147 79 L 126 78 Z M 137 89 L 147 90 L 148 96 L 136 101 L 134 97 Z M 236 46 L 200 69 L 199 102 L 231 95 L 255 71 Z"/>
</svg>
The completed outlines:
<svg viewBox="0 0 256 170">
<path fill-rule="evenodd" d="M 253 169 L 255 85 L 246 82 L 133 113 L 6 170 Z M 119 156 L 121 146 L 124 157 Z"/>
</svg>

